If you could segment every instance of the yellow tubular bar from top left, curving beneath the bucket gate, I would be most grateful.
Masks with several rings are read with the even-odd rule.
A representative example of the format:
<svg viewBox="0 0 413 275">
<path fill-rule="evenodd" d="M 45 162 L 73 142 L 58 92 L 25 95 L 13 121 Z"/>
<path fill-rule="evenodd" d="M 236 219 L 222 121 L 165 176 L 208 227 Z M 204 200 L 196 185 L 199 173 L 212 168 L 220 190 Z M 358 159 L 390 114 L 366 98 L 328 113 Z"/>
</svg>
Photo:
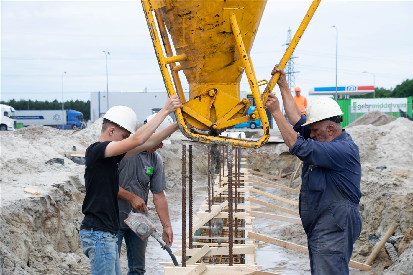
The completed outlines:
<svg viewBox="0 0 413 275">
<path fill-rule="evenodd" d="M 171 80 L 171 76 L 169 75 L 169 71 L 167 69 L 167 64 L 168 64 L 167 61 L 170 61 L 171 59 L 166 59 L 164 57 L 164 53 L 162 51 L 162 47 L 161 47 L 161 43 L 160 43 L 159 36 L 157 33 L 155 21 L 152 16 L 152 8 L 150 6 L 149 0 L 141 0 L 141 2 L 142 2 L 143 11 L 145 12 L 145 18 L 146 18 L 146 22 L 147 22 L 149 32 L 152 38 L 152 43 L 154 45 L 155 53 L 157 55 L 159 69 L 161 70 L 162 78 L 164 78 L 164 83 L 165 83 L 165 87 L 168 92 L 168 95 L 169 97 L 171 97 L 173 95 L 176 95 L 176 92 L 173 88 L 173 82 Z M 258 102 L 260 102 L 259 95 L 258 95 Z M 262 104 L 261 104 L 261 112 L 259 112 L 259 115 L 263 117 L 264 119 L 266 118 L 266 116 L 264 116 L 265 110 L 263 109 Z M 195 141 L 200 141 L 200 142 L 205 142 L 205 143 L 217 143 L 221 145 L 232 145 L 234 147 L 242 147 L 242 148 L 247 148 L 247 149 L 254 149 L 254 148 L 259 148 L 262 145 L 264 145 L 267 142 L 268 137 L 269 137 L 268 119 L 266 119 L 267 128 L 265 130 L 263 137 L 261 137 L 260 140 L 254 142 L 250 140 L 238 140 L 238 139 L 234 139 L 231 137 L 214 137 L 214 136 L 209 136 L 209 135 L 195 134 L 195 133 L 190 132 L 190 130 L 187 128 L 181 109 L 177 109 L 175 111 L 175 117 L 176 117 L 176 120 L 178 121 L 178 126 L 181 132 L 183 133 L 183 135 L 185 135 L 185 137 L 188 137 L 190 140 L 195 140 Z"/>
</svg>

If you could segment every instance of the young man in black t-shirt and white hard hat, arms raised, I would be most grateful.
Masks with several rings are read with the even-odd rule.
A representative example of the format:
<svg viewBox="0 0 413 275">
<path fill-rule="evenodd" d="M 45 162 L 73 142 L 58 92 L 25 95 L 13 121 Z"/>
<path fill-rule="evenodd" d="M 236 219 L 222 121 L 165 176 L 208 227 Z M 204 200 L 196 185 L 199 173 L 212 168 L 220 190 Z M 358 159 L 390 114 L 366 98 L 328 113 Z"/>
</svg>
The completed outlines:
<svg viewBox="0 0 413 275">
<path fill-rule="evenodd" d="M 92 274 L 121 274 L 116 234 L 119 230 L 119 162 L 151 149 L 178 130 L 177 123 L 154 133 L 165 117 L 180 107 L 178 96 L 169 97 L 158 115 L 139 128 L 132 109 L 115 106 L 103 116 L 99 140 L 86 149 L 86 194 L 79 234 Z M 152 135 L 152 133 L 154 133 Z"/>
</svg>

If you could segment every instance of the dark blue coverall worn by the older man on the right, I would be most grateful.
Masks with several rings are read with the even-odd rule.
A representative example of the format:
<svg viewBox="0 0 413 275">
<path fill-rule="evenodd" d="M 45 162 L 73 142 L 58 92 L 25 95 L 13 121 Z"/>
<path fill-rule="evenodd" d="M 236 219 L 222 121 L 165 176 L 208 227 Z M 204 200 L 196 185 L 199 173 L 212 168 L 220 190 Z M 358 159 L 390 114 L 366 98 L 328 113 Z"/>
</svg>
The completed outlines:
<svg viewBox="0 0 413 275">
<path fill-rule="evenodd" d="M 310 138 L 303 114 L 290 153 L 303 161 L 299 212 L 308 239 L 311 274 L 349 274 L 361 232 L 361 164 L 358 146 L 343 133 L 330 142 Z"/>
</svg>

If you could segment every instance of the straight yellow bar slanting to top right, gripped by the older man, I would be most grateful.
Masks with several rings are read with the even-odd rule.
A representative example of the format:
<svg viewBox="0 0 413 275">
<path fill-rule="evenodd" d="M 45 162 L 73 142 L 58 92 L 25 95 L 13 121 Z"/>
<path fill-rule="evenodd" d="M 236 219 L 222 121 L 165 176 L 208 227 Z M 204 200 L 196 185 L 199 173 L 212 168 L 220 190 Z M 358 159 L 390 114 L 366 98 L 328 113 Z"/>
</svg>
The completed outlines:
<svg viewBox="0 0 413 275">
<path fill-rule="evenodd" d="M 310 23 L 311 18 L 313 17 L 314 13 L 316 12 L 316 9 L 318 5 L 320 4 L 321 0 L 313 0 L 311 3 L 311 6 L 309 7 L 306 15 L 304 16 L 303 21 L 301 21 L 300 26 L 298 27 L 297 32 L 294 35 L 294 38 L 292 38 L 290 45 L 288 45 L 287 50 L 285 51 L 285 54 L 282 56 L 280 63 L 278 65 L 279 68 L 284 69 L 285 66 L 287 65 L 288 60 L 290 60 L 290 57 L 292 53 L 294 52 L 295 48 L 297 47 L 298 42 L 300 41 L 301 36 L 303 35 L 304 31 L 306 30 L 308 24 Z M 275 73 L 270 81 L 269 85 L 265 88 L 264 92 L 261 95 L 261 103 L 263 105 L 266 104 L 267 98 L 268 98 L 268 93 L 270 93 L 274 87 L 275 83 L 277 83 L 278 79 L 280 78 L 280 73 Z"/>
</svg>

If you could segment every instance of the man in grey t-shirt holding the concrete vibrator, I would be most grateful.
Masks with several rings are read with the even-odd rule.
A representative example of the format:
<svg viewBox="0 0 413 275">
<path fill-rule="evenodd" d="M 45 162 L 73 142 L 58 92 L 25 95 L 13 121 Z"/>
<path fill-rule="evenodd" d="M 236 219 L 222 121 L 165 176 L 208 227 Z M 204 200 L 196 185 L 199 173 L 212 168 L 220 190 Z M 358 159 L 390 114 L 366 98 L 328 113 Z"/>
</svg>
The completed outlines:
<svg viewBox="0 0 413 275">
<path fill-rule="evenodd" d="M 145 122 L 150 121 L 155 115 L 148 116 Z M 156 131 L 172 123 L 171 117 L 167 116 Z M 162 148 L 164 144 L 171 144 L 169 138 L 151 150 L 123 159 L 119 165 L 118 204 L 121 221 L 117 237 L 119 256 L 121 254 L 122 239 L 125 237 L 129 267 L 128 275 L 145 273 L 147 240 L 142 241 L 123 220 L 128 217 L 127 213 L 131 209 L 140 213 L 147 213 L 146 204 L 148 202 L 149 190 L 152 192 L 154 205 L 163 227 L 162 239 L 169 247 L 171 247 L 173 242 L 168 202 L 166 202 L 164 194 L 164 190 L 167 188 L 164 164 L 162 163 L 161 156 L 155 152 L 157 149 Z"/>
</svg>

